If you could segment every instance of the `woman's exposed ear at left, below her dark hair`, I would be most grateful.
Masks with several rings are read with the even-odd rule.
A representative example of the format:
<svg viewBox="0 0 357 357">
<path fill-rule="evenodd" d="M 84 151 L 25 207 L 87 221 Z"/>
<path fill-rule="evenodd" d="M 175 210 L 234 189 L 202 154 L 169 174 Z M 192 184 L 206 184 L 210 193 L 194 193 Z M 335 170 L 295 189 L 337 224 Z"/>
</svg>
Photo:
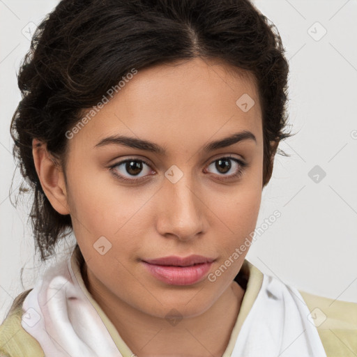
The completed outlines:
<svg viewBox="0 0 357 357">
<path fill-rule="evenodd" d="M 32 140 L 32 155 L 38 179 L 47 199 L 58 213 L 68 215 L 70 209 L 61 165 L 47 151 L 47 144 L 38 139 Z"/>
</svg>

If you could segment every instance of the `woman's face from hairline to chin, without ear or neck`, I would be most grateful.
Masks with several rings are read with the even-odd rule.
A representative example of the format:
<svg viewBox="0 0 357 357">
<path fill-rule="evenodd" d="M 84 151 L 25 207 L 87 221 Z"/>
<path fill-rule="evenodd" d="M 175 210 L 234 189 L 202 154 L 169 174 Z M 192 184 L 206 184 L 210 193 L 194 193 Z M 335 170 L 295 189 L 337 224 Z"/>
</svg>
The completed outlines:
<svg viewBox="0 0 357 357">
<path fill-rule="evenodd" d="M 236 104 L 247 94 L 249 110 Z M 194 59 L 139 70 L 68 139 L 73 229 L 103 295 L 156 317 L 172 308 L 201 314 L 220 298 L 248 249 L 234 252 L 257 223 L 262 134 L 253 82 Z M 241 139 L 222 142 L 234 135 Z M 184 284 L 156 278 L 143 262 L 173 255 L 214 261 Z"/>
</svg>

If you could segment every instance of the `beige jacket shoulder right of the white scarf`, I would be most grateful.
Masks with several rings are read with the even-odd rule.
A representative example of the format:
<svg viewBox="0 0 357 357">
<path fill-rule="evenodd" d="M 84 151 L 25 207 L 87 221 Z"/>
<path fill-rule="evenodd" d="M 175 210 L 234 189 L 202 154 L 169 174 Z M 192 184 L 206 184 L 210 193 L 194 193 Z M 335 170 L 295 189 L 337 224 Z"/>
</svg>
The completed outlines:
<svg viewBox="0 0 357 357">
<path fill-rule="evenodd" d="M 357 303 L 299 291 L 316 327 L 327 357 L 357 356 Z"/>
</svg>

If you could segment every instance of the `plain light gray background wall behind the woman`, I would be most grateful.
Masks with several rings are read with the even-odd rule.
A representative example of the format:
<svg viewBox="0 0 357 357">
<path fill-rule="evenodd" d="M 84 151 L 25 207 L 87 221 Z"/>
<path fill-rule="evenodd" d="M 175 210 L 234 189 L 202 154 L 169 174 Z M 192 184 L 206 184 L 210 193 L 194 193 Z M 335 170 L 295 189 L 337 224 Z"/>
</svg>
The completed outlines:
<svg viewBox="0 0 357 357">
<path fill-rule="evenodd" d="M 8 198 L 12 179 L 14 190 L 21 181 L 18 170 L 13 177 L 9 126 L 20 100 L 15 73 L 29 49 L 28 33 L 57 3 L 0 0 L 1 321 L 13 298 L 33 287 L 46 267 L 33 255 L 29 198 L 18 208 Z M 357 302 L 357 1 L 254 3 L 278 27 L 287 50 L 289 123 L 298 135 L 280 145 L 291 157 L 275 158 L 257 227 L 276 209 L 281 217 L 257 235 L 247 258 L 297 289 Z M 70 243 L 59 247 L 62 256 Z"/>
</svg>

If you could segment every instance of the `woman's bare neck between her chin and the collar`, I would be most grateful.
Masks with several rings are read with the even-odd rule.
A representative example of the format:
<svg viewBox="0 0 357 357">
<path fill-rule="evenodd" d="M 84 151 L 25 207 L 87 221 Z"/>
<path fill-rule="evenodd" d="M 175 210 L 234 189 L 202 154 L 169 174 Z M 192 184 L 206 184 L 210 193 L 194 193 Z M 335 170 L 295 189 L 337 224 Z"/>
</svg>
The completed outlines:
<svg viewBox="0 0 357 357">
<path fill-rule="evenodd" d="M 245 293 L 233 281 L 203 314 L 184 317 L 170 324 L 167 319 L 137 310 L 111 294 L 85 263 L 82 276 L 87 289 L 112 321 L 121 338 L 139 357 L 222 356 L 227 349 Z"/>
</svg>

